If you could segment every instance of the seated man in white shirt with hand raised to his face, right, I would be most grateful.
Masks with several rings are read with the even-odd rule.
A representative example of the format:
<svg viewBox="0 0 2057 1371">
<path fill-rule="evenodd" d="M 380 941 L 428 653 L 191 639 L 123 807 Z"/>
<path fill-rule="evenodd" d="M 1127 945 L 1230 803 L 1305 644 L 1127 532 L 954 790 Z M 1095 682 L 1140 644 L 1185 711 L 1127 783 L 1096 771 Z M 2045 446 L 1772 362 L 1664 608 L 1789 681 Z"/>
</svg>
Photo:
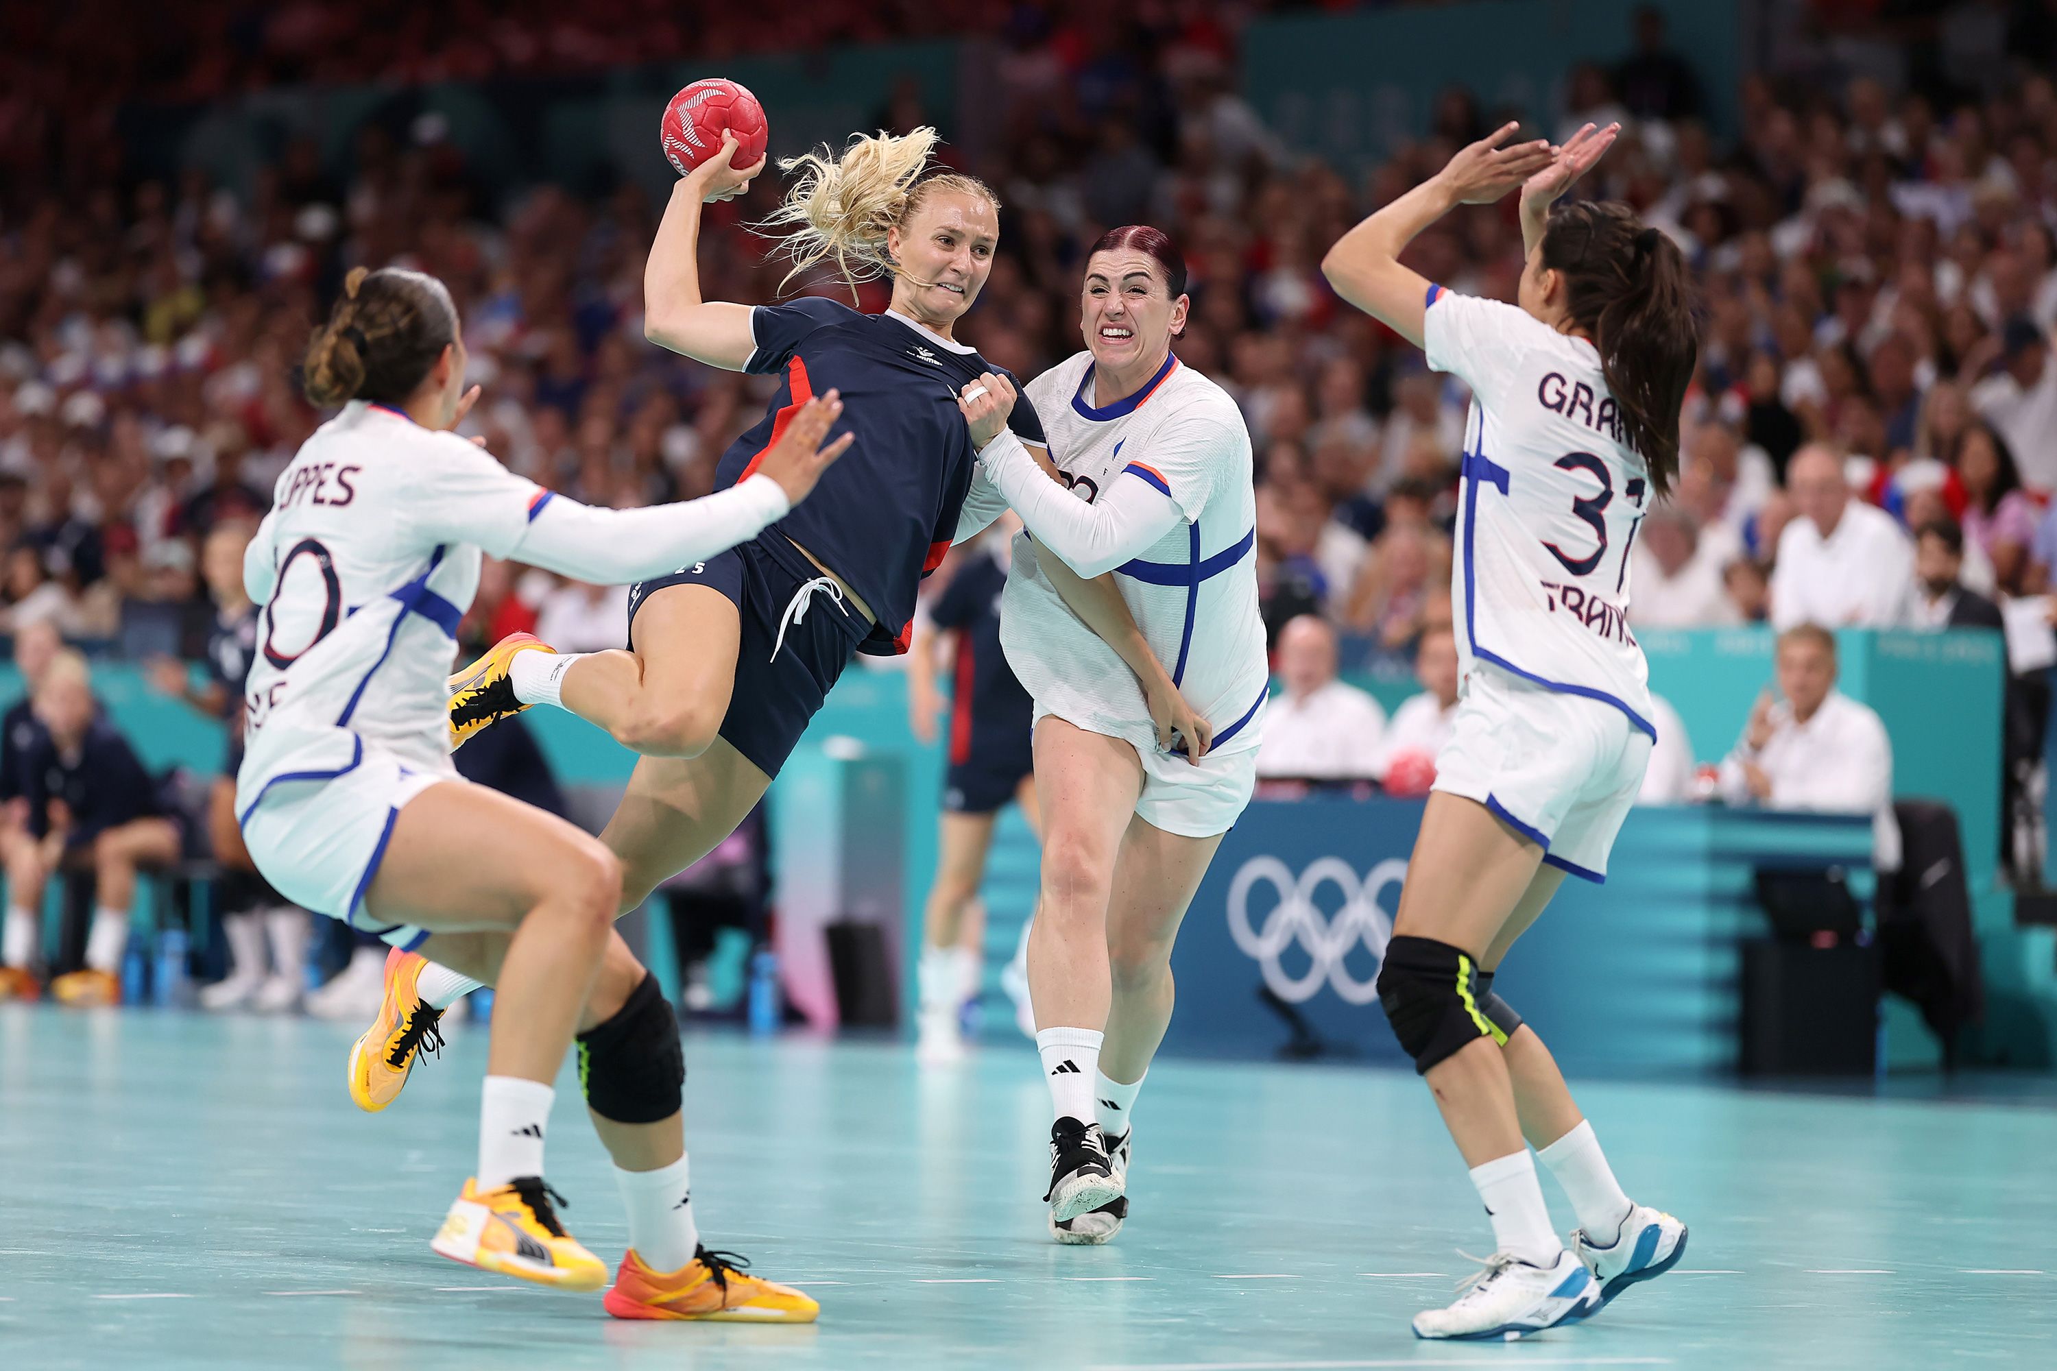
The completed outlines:
<svg viewBox="0 0 2057 1371">
<path fill-rule="evenodd" d="M 1777 693 L 1751 709 L 1742 740 L 1722 763 L 1730 804 L 1872 816 L 1872 865 L 1897 872 L 1892 740 L 1870 705 L 1835 689 L 1835 635 L 1802 623 L 1779 633 Z"/>
</svg>

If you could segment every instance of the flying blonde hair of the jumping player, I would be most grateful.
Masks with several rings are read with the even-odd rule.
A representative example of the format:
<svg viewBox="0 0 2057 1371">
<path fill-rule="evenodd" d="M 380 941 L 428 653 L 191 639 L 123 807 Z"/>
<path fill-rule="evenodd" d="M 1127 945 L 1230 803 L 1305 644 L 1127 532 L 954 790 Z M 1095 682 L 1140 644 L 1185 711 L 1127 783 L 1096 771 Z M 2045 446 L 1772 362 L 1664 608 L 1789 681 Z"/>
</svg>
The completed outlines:
<svg viewBox="0 0 2057 1371">
<path fill-rule="evenodd" d="M 852 296 L 858 282 L 891 275 L 895 261 L 887 251 L 887 230 L 907 222 L 932 189 L 981 195 L 998 210 L 1000 199 L 977 177 L 924 177 L 936 142 L 936 129 L 928 125 L 911 134 L 880 129 L 874 138 L 854 134 L 839 158 L 827 144 L 819 152 L 782 158 L 780 171 L 798 173 L 798 179 L 784 203 L 755 226 L 765 236 L 782 236 L 775 251 L 792 257 L 780 290 L 829 259 Z"/>
</svg>

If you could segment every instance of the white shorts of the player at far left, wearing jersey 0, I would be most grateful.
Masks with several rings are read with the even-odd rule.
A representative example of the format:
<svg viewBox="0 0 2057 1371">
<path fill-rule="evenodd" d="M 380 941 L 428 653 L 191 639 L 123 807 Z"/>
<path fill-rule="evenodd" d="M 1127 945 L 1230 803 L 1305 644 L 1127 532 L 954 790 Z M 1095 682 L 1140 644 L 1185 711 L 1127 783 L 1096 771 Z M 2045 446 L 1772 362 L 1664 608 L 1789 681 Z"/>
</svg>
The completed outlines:
<svg viewBox="0 0 2057 1371">
<path fill-rule="evenodd" d="M 329 756 L 331 746 L 309 748 L 304 767 L 278 765 L 255 795 L 237 795 L 243 843 L 263 878 L 294 904 L 411 952 L 428 931 L 366 921 L 364 892 L 378 876 L 393 822 L 407 802 L 438 781 L 461 777 L 420 771 L 354 734 L 346 738 L 354 742 L 348 754 Z"/>
</svg>

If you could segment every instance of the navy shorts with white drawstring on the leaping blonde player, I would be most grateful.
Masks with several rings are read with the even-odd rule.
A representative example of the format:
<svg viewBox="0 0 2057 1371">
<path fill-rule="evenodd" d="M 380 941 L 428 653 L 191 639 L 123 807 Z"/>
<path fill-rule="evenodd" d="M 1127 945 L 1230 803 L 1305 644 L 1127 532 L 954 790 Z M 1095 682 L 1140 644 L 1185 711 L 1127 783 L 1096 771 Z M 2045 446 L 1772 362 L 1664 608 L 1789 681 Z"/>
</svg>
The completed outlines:
<svg viewBox="0 0 2057 1371">
<path fill-rule="evenodd" d="M 629 647 L 636 647 L 636 610 L 666 586 L 712 586 L 736 606 L 743 641 L 736 650 L 736 682 L 722 717 L 722 738 L 753 767 L 775 777 L 806 732 L 829 687 L 835 684 L 858 643 L 872 631 L 864 615 L 815 594 L 806 619 L 786 629 L 778 662 L 778 621 L 802 584 L 819 576 L 800 549 L 775 532 L 718 553 L 708 561 L 629 586 Z M 798 565 L 794 565 L 798 563 Z M 804 567 L 804 569 L 802 569 Z"/>
</svg>

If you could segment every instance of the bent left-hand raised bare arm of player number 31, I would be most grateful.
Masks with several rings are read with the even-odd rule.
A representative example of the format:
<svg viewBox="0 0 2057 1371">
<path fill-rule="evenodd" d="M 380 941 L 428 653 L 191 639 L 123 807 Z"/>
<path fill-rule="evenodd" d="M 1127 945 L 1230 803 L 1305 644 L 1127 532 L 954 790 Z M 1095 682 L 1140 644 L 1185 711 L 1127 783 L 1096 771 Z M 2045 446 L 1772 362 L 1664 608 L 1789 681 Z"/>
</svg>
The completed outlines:
<svg viewBox="0 0 2057 1371">
<path fill-rule="evenodd" d="M 1401 265 L 1401 253 L 1456 206 L 1491 203 L 1553 164 L 1557 154 L 1543 140 L 1502 148 L 1516 127 L 1502 125 L 1458 150 L 1440 173 L 1337 238 L 1321 259 L 1335 294 L 1419 347 L 1430 284 Z"/>
</svg>

